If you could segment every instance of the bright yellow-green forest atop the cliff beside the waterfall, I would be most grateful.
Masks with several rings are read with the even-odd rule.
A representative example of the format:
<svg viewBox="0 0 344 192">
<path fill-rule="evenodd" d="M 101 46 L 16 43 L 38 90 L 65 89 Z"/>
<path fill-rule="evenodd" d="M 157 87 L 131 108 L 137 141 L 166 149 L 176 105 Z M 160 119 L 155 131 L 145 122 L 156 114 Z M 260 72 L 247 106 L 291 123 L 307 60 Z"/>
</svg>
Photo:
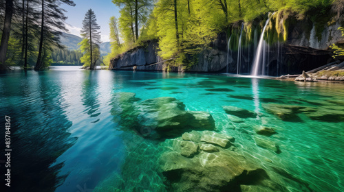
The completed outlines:
<svg viewBox="0 0 344 192">
<path fill-rule="evenodd" d="M 172 65 L 192 65 L 197 53 L 208 49 L 217 34 L 229 35 L 238 23 L 250 23 L 277 12 L 275 18 L 278 40 L 285 41 L 288 34 L 288 17 L 310 18 L 318 23 L 343 21 L 344 1 L 337 0 L 160 0 L 157 2 L 113 0 L 120 6 L 120 18 L 111 18 L 111 58 L 120 53 L 144 45 L 147 40 L 158 40 L 159 55 L 171 60 Z M 337 55 L 343 49 L 332 46 Z"/>
</svg>

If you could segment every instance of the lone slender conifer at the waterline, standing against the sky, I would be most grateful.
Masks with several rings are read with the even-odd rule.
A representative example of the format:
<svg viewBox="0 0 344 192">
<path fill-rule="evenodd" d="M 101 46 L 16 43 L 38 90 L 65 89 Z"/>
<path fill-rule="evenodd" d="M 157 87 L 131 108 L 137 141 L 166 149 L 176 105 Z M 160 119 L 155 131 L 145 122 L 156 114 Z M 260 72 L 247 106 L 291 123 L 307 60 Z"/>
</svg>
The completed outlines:
<svg viewBox="0 0 344 192">
<path fill-rule="evenodd" d="M 83 20 L 83 29 L 81 29 L 81 36 L 83 36 L 84 40 L 80 44 L 83 48 L 80 48 L 82 51 L 86 51 L 84 55 L 85 58 L 88 57 L 89 54 L 89 69 L 91 70 L 94 69 L 94 65 L 100 57 L 100 54 L 98 54 L 98 44 L 100 43 L 100 32 L 97 31 L 98 29 L 100 29 L 100 27 L 97 24 L 96 14 L 94 14 L 94 11 L 92 9 L 89 9 L 85 14 L 85 19 Z M 81 62 L 85 63 L 85 60 L 81 60 Z"/>
</svg>

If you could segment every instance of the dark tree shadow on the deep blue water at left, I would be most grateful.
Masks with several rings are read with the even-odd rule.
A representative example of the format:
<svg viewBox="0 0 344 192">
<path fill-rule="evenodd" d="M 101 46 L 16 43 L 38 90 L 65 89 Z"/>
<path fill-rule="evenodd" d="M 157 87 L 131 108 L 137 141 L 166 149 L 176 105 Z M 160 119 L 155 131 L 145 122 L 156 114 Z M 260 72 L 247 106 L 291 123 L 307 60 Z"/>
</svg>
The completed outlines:
<svg viewBox="0 0 344 192">
<path fill-rule="evenodd" d="M 51 165 L 77 139 L 68 132 L 72 122 L 65 115 L 61 87 L 45 73 L 1 79 L 10 84 L 0 113 L 11 117 L 12 191 L 54 191 L 67 176 L 57 176 L 63 163 Z"/>
</svg>

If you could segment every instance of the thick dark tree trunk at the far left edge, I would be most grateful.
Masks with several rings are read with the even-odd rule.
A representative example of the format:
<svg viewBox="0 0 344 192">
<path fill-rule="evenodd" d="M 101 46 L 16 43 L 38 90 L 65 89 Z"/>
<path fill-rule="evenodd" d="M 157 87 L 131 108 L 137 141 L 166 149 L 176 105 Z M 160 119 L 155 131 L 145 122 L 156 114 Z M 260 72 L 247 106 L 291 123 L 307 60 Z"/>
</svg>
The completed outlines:
<svg viewBox="0 0 344 192">
<path fill-rule="evenodd" d="M 3 33 L 0 45 L 0 70 L 6 70 L 6 53 L 8 49 L 8 40 L 10 39 L 11 23 L 13 15 L 13 0 L 6 1 L 5 23 L 3 24 Z"/>
</svg>

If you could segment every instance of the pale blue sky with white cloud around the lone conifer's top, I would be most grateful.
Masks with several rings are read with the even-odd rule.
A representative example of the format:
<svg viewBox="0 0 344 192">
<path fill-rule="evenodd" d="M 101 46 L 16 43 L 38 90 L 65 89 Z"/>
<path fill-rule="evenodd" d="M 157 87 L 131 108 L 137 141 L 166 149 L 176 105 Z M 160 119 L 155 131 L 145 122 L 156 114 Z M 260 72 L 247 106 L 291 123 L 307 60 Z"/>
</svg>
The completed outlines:
<svg viewBox="0 0 344 192">
<path fill-rule="evenodd" d="M 100 26 L 100 35 L 102 42 L 109 40 L 109 20 L 111 16 L 120 16 L 120 9 L 111 2 L 111 0 L 74 0 L 75 7 L 63 4 L 62 8 L 67 11 L 65 16 L 68 19 L 66 27 L 69 34 L 80 36 L 80 29 L 83 27 L 83 19 L 87 10 L 92 9 L 96 14 L 97 23 Z"/>
</svg>

